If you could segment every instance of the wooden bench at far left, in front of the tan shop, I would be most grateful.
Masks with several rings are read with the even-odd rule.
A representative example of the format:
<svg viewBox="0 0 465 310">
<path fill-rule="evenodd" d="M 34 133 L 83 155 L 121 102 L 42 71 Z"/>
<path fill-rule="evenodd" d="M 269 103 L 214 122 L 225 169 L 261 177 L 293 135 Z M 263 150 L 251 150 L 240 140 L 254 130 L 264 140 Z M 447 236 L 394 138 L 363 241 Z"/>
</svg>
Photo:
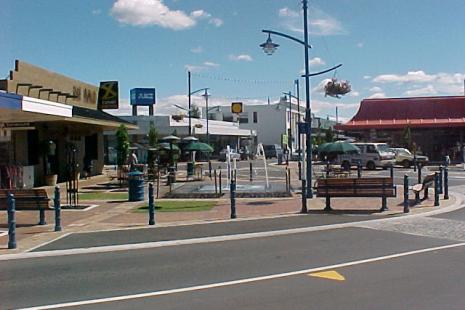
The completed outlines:
<svg viewBox="0 0 465 310">
<path fill-rule="evenodd" d="M 39 210 L 39 225 L 45 225 L 50 201 L 45 189 L 0 189 L 0 210 L 8 209 L 10 193 L 14 195 L 16 210 Z"/>
</svg>

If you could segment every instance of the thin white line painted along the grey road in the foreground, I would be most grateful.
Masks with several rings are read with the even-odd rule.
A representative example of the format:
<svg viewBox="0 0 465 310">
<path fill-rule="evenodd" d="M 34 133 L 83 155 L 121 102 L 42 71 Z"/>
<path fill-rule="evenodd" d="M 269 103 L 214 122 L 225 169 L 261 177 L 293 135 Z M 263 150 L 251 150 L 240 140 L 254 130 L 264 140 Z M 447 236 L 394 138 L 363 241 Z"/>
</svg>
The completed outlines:
<svg viewBox="0 0 465 310">
<path fill-rule="evenodd" d="M 296 276 L 296 275 L 319 272 L 323 270 L 332 270 L 332 269 L 337 269 L 337 268 L 362 265 L 362 264 L 373 263 L 373 262 L 378 262 L 378 261 L 383 261 L 383 260 L 395 259 L 399 257 L 411 256 L 415 254 L 422 254 L 422 253 L 434 252 L 434 251 L 439 251 L 439 250 L 452 249 L 452 248 L 457 248 L 457 247 L 462 247 L 462 246 L 465 246 L 465 242 L 432 247 L 432 248 L 425 248 L 421 250 L 402 252 L 402 253 L 397 253 L 397 254 L 390 254 L 390 255 L 373 257 L 373 258 L 367 258 L 367 259 L 334 264 L 334 265 L 329 265 L 329 266 L 321 266 L 321 267 L 310 268 L 310 269 L 305 269 L 305 270 L 298 270 L 298 271 L 291 271 L 291 272 L 280 273 L 280 274 L 260 276 L 260 277 L 255 277 L 255 278 L 246 278 L 246 279 L 240 279 L 240 280 L 225 281 L 225 282 L 219 282 L 219 283 L 184 287 L 184 288 L 178 288 L 178 289 L 170 289 L 170 290 L 164 290 L 164 291 L 155 291 L 155 292 L 149 292 L 149 293 L 133 294 L 133 295 L 126 295 L 126 296 L 115 296 L 115 297 L 90 299 L 90 300 L 75 301 L 75 302 L 68 302 L 68 303 L 61 303 L 61 304 L 43 305 L 43 306 L 36 306 L 36 307 L 30 307 L 30 308 L 22 308 L 22 310 L 42 310 L 42 309 L 77 307 L 77 306 L 84 306 L 84 305 L 101 304 L 101 303 L 106 303 L 106 302 L 125 301 L 125 300 L 131 300 L 131 299 L 157 297 L 157 296 L 165 296 L 165 295 L 178 294 L 178 293 L 193 292 L 193 291 L 206 290 L 206 289 L 212 289 L 212 288 L 219 288 L 219 287 L 226 287 L 226 286 L 252 283 L 252 282 L 258 282 L 258 281 L 279 279 L 279 278 L 284 278 L 284 277 L 291 277 L 291 276 Z"/>
</svg>

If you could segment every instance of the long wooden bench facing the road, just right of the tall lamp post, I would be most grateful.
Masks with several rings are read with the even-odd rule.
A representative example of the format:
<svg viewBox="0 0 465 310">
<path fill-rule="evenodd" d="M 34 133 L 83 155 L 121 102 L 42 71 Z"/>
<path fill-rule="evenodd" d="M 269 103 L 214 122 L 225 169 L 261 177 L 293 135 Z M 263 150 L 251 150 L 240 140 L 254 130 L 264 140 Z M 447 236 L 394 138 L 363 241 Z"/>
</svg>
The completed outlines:
<svg viewBox="0 0 465 310">
<path fill-rule="evenodd" d="M 317 197 L 326 198 L 325 211 L 331 210 L 331 197 L 381 197 L 381 211 L 387 210 L 387 197 L 396 197 L 394 180 L 380 178 L 322 178 L 316 182 Z"/>
</svg>

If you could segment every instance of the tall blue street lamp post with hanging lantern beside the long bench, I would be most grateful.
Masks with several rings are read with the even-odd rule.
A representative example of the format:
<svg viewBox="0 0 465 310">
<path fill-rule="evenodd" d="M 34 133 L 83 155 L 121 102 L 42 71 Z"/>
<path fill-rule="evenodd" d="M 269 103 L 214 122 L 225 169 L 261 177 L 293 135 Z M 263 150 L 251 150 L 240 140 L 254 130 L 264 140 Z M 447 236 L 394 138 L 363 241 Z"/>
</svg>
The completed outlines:
<svg viewBox="0 0 465 310">
<path fill-rule="evenodd" d="M 264 33 L 268 33 L 268 39 L 266 40 L 265 43 L 260 44 L 260 47 L 263 48 L 263 51 L 267 55 L 272 55 L 274 51 L 279 47 L 278 44 L 273 43 L 271 40 L 271 35 L 277 35 L 284 37 L 286 39 L 292 40 L 294 42 L 300 43 L 301 45 L 304 46 L 304 56 L 305 56 L 305 74 L 303 77 L 305 77 L 305 93 L 306 93 L 306 98 L 305 98 L 305 106 L 306 106 L 306 111 L 305 111 L 305 123 L 307 123 L 307 132 L 306 134 L 306 149 L 307 149 L 307 155 L 306 155 L 306 162 L 307 162 L 307 173 L 306 173 L 306 180 L 307 180 L 307 198 L 313 198 L 313 192 L 312 192 L 312 135 L 311 135 L 311 129 L 312 129 L 312 118 L 311 118 L 311 106 L 310 106 L 310 77 L 315 76 L 315 75 L 320 75 L 332 70 L 335 70 L 339 68 L 342 65 L 337 65 L 335 67 L 332 67 L 330 69 L 317 72 L 317 73 L 310 73 L 310 66 L 308 62 L 308 49 L 312 48 L 308 44 L 308 23 L 307 23 L 307 10 L 308 10 L 308 0 L 302 0 L 302 9 L 303 9 L 303 15 L 304 15 L 304 40 L 300 40 L 297 38 L 294 38 L 290 35 L 273 31 L 273 30 L 262 30 Z"/>
</svg>

